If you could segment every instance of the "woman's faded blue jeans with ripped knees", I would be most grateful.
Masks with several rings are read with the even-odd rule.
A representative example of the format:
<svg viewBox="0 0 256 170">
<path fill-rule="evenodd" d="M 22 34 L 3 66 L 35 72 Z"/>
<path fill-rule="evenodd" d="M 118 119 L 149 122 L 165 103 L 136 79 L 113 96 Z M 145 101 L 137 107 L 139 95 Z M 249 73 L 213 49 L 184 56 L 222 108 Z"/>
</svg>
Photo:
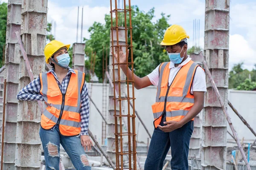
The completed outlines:
<svg viewBox="0 0 256 170">
<path fill-rule="evenodd" d="M 88 157 L 81 145 L 80 136 L 63 136 L 56 125 L 51 130 L 39 130 L 44 147 L 46 170 L 59 170 L 60 144 L 67 152 L 76 170 L 91 170 Z"/>
</svg>

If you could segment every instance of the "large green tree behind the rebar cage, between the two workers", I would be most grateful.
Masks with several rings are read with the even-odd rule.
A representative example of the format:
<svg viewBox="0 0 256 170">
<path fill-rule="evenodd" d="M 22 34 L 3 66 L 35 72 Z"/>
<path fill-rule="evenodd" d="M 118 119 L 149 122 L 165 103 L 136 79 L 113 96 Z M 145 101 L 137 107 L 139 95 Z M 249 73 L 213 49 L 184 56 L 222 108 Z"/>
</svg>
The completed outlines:
<svg viewBox="0 0 256 170">
<path fill-rule="evenodd" d="M 120 13 L 121 14 L 121 13 Z M 169 15 L 162 14 L 162 17 L 156 22 L 153 22 L 154 8 L 148 12 L 140 11 L 137 6 L 132 7 L 132 37 L 133 37 L 133 57 L 134 57 L 134 70 L 135 74 L 143 77 L 153 71 L 161 62 L 168 61 L 169 58 L 166 55 L 166 51 L 161 48 L 160 42 L 163 40 L 163 35 L 168 28 L 167 23 Z M 119 26 L 125 26 L 124 16 L 119 15 Z M 127 16 L 127 22 L 129 16 Z M 103 46 L 108 50 L 110 49 L 110 27 L 111 16 L 105 15 L 105 24 L 93 23 L 88 31 L 90 32 L 90 38 L 84 39 L 86 43 L 85 53 L 89 57 L 89 60 L 85 62 L 87 69 L 90 69 L 90 58 L 93 51 L 96 51 L 96 66 L 95 73 L 102 81 L 102 51 Z M 113 20 L 115 25 L 115 20 Z M 129 27 L 129 22 L 127 23 Z M 128 30 L 128 35 L 130 31 Z M 128 37 L 130 42 L 130 37 Z M 108 56 L 109 58 L 109 56 Z M 129 56 L 131 59 L 131 56 Z"/>
</svg>

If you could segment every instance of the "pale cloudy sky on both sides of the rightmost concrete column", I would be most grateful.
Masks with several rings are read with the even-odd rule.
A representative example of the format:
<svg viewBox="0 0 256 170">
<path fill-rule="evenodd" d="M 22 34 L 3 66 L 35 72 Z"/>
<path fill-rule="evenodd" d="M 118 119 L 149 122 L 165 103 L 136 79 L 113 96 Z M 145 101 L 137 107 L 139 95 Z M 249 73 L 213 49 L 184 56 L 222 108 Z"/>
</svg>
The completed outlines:
<svg viewBox="0 0 256 170">
<path fill-rule="evenodd" d="M 185 28 L 190 39 L 189 48 L 193 44 L 193 20 L 200 19 L 200 47 L 204 49 L 204 13 L 205 3 L 199 0 L 181 0 L 169 4 L 155 6 L 156 19 L 161 12 L 171 14 L 169 23 Z M 230 3 L 230 58 L 229 68 L 244 62 L 244 68 L 253 69 L 256 63 L 256 3 Z"/>
</svg>

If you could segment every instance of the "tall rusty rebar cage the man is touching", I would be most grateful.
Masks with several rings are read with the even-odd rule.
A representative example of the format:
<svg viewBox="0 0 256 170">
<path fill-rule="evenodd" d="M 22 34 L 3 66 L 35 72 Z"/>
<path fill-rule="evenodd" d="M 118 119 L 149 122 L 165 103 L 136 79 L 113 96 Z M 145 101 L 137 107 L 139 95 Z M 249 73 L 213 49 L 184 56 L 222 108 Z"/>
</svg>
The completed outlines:
<svg viewBox="0 0 256 170">
<path fill-rule="evenodd" d="M 112 3 L 114 1 L 114 4 Z M 113 54 L 113 70 L 115 70 L 115 67 L 118 68 L 118 79 L 116 79 L 115 71 L 113 71 L 113 99 L 114 102 L 114 118 L 115 118 L 115 147 L 116 147 L 116 170 L 137 170 L 137 161 L 136 161 L 136 132 L 135 132 L 135 109 L 133 108 L 132 114 L 130 113 L 130 100 L 132 100 L 133 107 L 134 107 L 134 62 L 133 62 L 133 45 L 132 45 L 132 25 L 131 25 L 131 0 L 128 0 L 128 6 L 126 5 L 125 0 L 123 0 L 123 6 L 122 9 L 118 8 L 117 0 L 110 0 L 110 6 L 111 6 L 111 50 L 115 51 L 115 48 L 117 48 L 117 61 L 115 61 L 115 57 Z M 113 7 L 113 6 L 114 7 Z M 127 15 L 129 15 L 129 26 L 127 24 Z M 124 23 L 120 22 L 118 17 L 124 18 Z M 120 26 L 122 24 L 122 26 Z M 124 26 L 123 26 L 124 24 Z M 125 30 L 125 44 L 121 45 L 119 44 L 119 30 Z M 114 31 L 116 32 L 116 45 L 114 45 Z M 130 44 L 128 44 L 128 34 L 129 34 L 129 41 Z M 125 48 L 125 54 L 126 54 L 126 62 L 120 63 L 119 61 L 119 48 Z M 130 48 L 130 54 L 131 54 L 131 62 L 128 62 L 128 48 Z M 120 76 L 120 65 L 126 65 L 126 72 L 128 72 L 129 66 L 131 66 L 132 76 L 122 80 Z M 127 97 L 121 97 L 121 83 L 124 83 L 127 85 Z M 129 90 L 129 84 L 132 84 L 132 96 L 130 97 L 130 90 Z M 115 91 L 117 91 L 118 96 L 116 96 Z M 122 111 L 122 102 L 127 102 L 128 105 L 128 111 L 127 114 L 123 113 Z M 116 105 L 119 105 L 119 114 L 116 114 Z M 127 119 L 127 127 L 128 132 L 123 133 L 122 132 L 122 126 L 118 126 L 118 123 L 122 125 L 122 119 Z M 119 122 L 118 122 L 119 121 Z M 128 144 L 123 148 L 123 138 L 128 138 Z M 126 149 L 127 148 L 127 149 Z M 124 167 L 124 156 L 128 156 L 128 166 Z"/>
</svg>

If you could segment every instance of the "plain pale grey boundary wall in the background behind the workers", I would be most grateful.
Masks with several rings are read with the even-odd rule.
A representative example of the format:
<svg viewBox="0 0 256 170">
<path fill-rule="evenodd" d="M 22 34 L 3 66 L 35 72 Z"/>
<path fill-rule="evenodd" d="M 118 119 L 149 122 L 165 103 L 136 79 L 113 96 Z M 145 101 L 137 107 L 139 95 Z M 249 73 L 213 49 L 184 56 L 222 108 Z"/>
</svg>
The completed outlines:
<svg viewBox="0 0 256 170">
<path fill-rule="evenodd" d="M 89 85 L 90 83 L 87 83 Z M 100 111 L 102 111 L 102 83 L 92 83 L 92 99 L 96 102 L 97 107 Z M 108 89 L 109 90 L 109 89 Z M 107 93 L 108 93 L 107 90 Z M 131 90 L 131 85 L 130 85 Z M 157 93 L 157 88 L 153 85 L 143 88 L 140 90 L 135 89 L 134 91 L 136 100 L 136 110 L 140 114 L 140 117 L 144 120 L 148 131 L 152 134 L 154 130 L 153 126 L 153 113 L 151 109 L 151 105 L 155 102 L 155 94 Z M 228 99 L 234 105 L 234 107 L 239 111 L 239 113 L 247 120 L 247 122 L 251 125 L 253 129 L 256 129 L 256 91 L 235 91 L 229 90 L 228 91 Z M 236 100 L 239 99 L 239 100 Z M 107 103 L 109 103 L 107 101 Z M 107 105 L 108 107 L 108 105 Z M 130 107 L 132 110 L 132 108 Z M 127 105 L 125 105 L 125 111 L 127 111 Z M 233 113 L 232 109 L 228 107 L 228 113 L 232 119 L 232 123 L 237 130 L 239 139 L 244 137 L 244 140 L 247 142 L 253 142 L 255 140 L 253 134 L 250 130 L 241 122 L 241 120 Z M 201 116 L 202 118 L 202 116 Z M 97 120 L 97 121 L 95 121 Z M 102 121 L 102 117 L 97 112 L 94 105 L 90 107 L 90 120 L 89 120 L 89 127 L 91 132 L 94 136 L 96 136 L 97 141 L 101 142 L 102 136 L 102 126 L 99 125 L 99 122 Z M 196 124 L 196 122 L 195 122 Z M 97 128 L 95 128 L 97 127 Z M 229 127 L 228 127 L 229 129 Z M 140 120 L 136 117 L 136 131 L 137 131 L 137 143 L 147 143 L 148 134 L 144 130 L 143 126 L 140 123 Z M 230 130 L 231 131 L 231 130 Z M 227 134 L 227 139 L 231 140 L 231 137 Z M 126 138 L 124 142 L 127 142 Z M 229 141 L 228 141 L 229 142 Z M 236 142 L 234 142 L 236 145 Z M 194 156 L 194 154 L 189 153 L 189 155 Z"/>
</svg>

